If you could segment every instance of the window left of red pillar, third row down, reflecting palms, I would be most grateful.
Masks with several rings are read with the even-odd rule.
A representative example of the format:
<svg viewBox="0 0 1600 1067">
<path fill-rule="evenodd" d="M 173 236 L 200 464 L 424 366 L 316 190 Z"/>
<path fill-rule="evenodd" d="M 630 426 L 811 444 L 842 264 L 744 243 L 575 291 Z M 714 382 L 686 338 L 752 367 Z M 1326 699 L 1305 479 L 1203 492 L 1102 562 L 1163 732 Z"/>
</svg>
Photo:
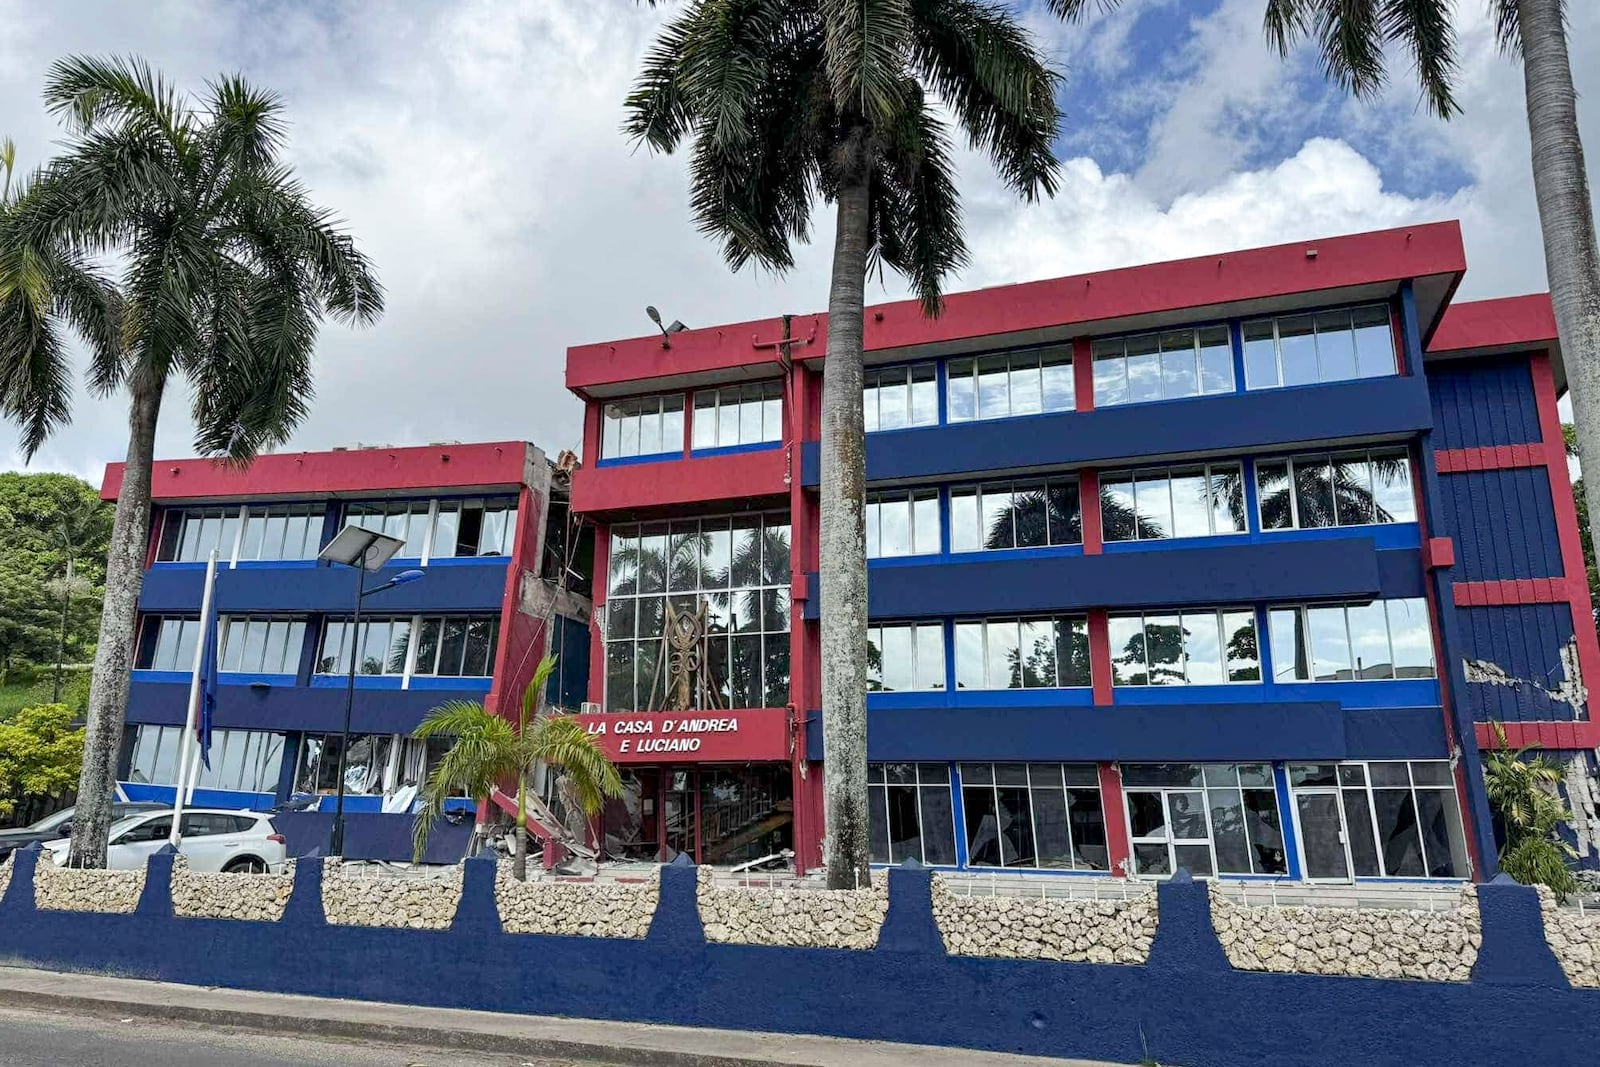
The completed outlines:
<svg viewBox="0 0 1600 1067">
<path fill-rule="evenodd" d="M 955 624 L 955 688 L 1051 689 L 1090 685 L 1085 616 Z"/>
</svg>

